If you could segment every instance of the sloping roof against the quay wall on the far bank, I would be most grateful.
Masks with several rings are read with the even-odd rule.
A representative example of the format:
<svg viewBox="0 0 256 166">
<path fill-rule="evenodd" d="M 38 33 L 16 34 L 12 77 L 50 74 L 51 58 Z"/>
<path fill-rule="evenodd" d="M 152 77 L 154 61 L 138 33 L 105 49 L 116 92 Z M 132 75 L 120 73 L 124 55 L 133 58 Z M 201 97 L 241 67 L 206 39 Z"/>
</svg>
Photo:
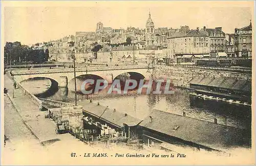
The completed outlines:
<svg viewBox="0 0 256 166">
<path fill-rule="evenodd" d="M 190 84 L 199 84 L 205 86 L 221 87 L 233 90 L 242 90 L 251 92 L 251 82 L 244 80 L 237 80 L 233 78 L 194 78 Z"/>
</svg>

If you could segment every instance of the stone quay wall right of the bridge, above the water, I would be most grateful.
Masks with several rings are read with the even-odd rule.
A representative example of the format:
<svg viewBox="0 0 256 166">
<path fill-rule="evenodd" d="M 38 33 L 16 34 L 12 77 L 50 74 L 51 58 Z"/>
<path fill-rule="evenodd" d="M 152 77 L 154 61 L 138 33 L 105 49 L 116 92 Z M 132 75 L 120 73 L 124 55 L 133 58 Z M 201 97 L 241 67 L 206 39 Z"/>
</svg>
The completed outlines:
<svg viewBox="0 0 256 166">
<path fill-rule="evenodd" d="M 251 74 L 249 73 L 164 65 L 156 65 L 153 74 L 154 79 L 170 79 L 174 86 L 185 88 L 189 87 L 189 82 L 195 77 L 227 77 L 239 80 L 251 80 Z"/>
</svg>

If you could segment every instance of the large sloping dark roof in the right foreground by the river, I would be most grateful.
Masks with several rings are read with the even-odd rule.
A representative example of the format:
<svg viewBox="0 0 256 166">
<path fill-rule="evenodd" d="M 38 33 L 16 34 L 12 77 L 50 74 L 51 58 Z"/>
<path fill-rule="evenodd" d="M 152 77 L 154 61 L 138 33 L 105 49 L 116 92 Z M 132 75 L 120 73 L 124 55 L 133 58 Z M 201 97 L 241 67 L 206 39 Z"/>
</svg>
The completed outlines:
<svg viewBox="0 0 256 166">
<path fill-rule="evenodd" d="M 152 116 L 153 121 L 150 122 L 150 117 L 146 117 L 139 124 L 140 126 L 212 149 L 241 145 L 249 139 L 244 135 L 243 129 L 205 122 L 160 110 L 154 109 L 148 116 Z M 178 129 L 175 130 L 176 126 L 178 126 Z"/>
</svg>

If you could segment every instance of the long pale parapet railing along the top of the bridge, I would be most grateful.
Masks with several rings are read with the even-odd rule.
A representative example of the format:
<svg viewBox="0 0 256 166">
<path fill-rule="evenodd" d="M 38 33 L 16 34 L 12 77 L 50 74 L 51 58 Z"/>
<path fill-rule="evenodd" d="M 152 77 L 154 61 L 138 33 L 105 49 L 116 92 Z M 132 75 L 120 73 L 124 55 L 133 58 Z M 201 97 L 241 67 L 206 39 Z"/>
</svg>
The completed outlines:
<svg viewBox="0 0 256 166">
<path fill-rule="evenodd" d="M 101 70 L 127 70 L 127 69 L 142 69 L 142 68 L 154 68 L 153 65 L 129 65 L 129 66 L 91 66 L 77 68 L 76 72 L 94 72 Z M 30 74 L 48 74 L 48 73 L 73 73 L 73 68 L 61 68 L 61 69 L 31 69 L 31 70 L 15 70 L 12 71 L 13 75 L 30 75 Z"/>
</svg>

